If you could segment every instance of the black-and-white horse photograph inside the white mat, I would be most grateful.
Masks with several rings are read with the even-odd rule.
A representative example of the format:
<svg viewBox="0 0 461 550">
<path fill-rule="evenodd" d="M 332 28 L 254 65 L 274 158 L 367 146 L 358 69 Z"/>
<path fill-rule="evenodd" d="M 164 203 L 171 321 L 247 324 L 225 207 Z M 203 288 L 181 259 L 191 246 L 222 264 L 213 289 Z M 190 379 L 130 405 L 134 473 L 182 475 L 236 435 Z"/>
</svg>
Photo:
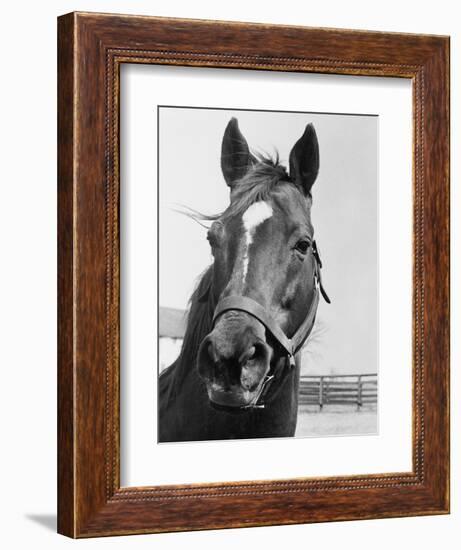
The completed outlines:
<svg viewBox="0 0 461 550">
<path fill-rule="evenodd" d="M 379 117 L 157 131 L 158 442 L 376 435 Z"/>
</svg>

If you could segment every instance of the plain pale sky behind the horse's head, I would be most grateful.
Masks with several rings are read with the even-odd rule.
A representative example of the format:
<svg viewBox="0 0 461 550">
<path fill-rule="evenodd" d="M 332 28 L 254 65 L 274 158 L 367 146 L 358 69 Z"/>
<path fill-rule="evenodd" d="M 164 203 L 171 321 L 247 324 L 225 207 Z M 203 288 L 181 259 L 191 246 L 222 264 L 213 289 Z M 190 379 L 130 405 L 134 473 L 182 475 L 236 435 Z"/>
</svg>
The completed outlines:
<svg viewBox="0 0 461 550">
<path fill-rule="evenodd" d="M 378 357 L 378 123 L 376 116 L 160 107 L 159 304 L 187 308 L 211 263 L 206 230 L 177 212 L 224 210 L 228 187 L 220 168 L 224 129 L 232 116 L 250 148 L 290 150 L 312 122 L 320 171 L 312 220 L 331 304 L 320 301 L 303 351 L 303 374 L 375 373 Z"/>
</svg>

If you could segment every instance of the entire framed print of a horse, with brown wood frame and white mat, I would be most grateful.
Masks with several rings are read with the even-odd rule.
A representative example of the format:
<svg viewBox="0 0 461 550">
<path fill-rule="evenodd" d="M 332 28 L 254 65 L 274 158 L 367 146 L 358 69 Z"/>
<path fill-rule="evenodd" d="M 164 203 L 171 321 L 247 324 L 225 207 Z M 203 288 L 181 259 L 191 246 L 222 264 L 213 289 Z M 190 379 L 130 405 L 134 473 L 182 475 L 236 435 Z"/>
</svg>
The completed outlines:
<svg viewBox="0 0 461 550">
<path fill-rule="evenodd" d="M 447 37 L 58 20 L 58 530 L 449 511 Z"/>
</svg>

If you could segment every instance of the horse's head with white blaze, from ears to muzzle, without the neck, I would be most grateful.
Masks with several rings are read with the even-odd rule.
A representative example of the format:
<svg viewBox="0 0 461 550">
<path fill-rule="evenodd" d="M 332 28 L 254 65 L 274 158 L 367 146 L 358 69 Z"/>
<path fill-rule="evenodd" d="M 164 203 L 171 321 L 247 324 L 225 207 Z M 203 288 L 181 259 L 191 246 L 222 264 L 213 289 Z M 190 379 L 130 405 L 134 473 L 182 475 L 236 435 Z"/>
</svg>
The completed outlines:
<svg viewBox="0 0 461 550">
<path fill-rule="evenodd" d="M 208 231 L 216 309 L 197 367 L 211 404 L 235 410 L 257 405 L 269 381 L 276 391 L 314 323 L 321 286 L 311 221 L 314 127 L 293 146 L 287 170 L 253 155 L 233 118 L 221 167 L 230 204 Z"/>
</svg>

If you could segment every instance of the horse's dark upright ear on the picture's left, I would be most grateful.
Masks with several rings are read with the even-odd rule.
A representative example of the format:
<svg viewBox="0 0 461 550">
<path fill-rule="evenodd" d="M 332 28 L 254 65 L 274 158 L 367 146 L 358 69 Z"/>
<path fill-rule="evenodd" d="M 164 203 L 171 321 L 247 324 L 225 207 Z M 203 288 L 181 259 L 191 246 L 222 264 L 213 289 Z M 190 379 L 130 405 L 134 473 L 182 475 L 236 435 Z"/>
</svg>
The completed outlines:
<svg viewBox="0 0 461 550">
<path fill-rule="evenodd" d="M 252 158 L 237 119 L 231 118 L 224 131 L 221 147 L 221 169 L 224 179 L 231 189 L 247 173 Z"/>
</svg>

